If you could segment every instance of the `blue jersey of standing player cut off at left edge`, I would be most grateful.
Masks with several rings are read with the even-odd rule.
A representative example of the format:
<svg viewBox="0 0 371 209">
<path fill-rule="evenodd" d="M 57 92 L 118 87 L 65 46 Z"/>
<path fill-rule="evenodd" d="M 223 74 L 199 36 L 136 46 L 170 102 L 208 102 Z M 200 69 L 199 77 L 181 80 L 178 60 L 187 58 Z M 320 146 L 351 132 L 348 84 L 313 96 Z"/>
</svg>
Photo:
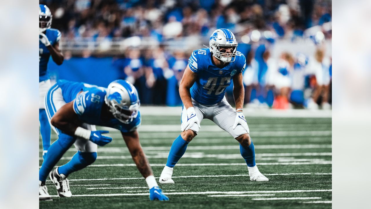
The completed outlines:
<svg viewBox="0 0 371 209">
<path fill-rule="evenodd" d="M 60 39 L 60 32 L 57 29 L 46 29 L 45 35 L 47 39 L 49 39 L 49 42 L 51 45 L 54 45 L 55 43 L 59 42 Z M 49 79 L 49 75 L 47 74 L 47 62 L 50 58 L 50 52 L 46 48 L 46 46 L 39 41 L 39 82 L 45 81 Z"/>
</svg>

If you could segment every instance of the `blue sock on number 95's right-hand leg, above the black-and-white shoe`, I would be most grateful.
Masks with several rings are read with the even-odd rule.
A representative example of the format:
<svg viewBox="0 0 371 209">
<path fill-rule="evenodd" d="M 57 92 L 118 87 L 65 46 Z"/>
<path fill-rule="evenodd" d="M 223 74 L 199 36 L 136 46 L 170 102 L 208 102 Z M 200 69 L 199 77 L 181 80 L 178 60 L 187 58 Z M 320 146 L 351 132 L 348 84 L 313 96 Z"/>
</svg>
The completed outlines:
<svg viewBox="0 0 371 209">
<path fill-rule="evenodd" d="M 58 173 L 68 176 L 70 173 L 81 170 L 82 168 L 94 163 L 96 156 L 96 152 L 78 151 L 73 155 L 72 159 L 68 163 L 58 167 Z"/>
</svg>

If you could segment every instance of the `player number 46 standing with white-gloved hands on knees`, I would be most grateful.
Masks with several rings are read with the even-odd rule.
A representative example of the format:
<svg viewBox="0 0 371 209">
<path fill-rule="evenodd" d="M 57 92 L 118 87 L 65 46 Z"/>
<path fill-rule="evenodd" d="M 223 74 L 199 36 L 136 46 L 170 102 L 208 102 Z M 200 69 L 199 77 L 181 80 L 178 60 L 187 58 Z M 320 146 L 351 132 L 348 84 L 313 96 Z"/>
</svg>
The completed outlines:
<svg viewBox="0 0 371 209">
<path fill-rule="evenodd" d="M 180 82 L 183 101 L 181 133 L 171 145 L 160 183 L 174 183 L 173 168 L 197 135 L 200 122 L 207 118 L 227 131 L 240 143 L 240 152 L 247 164 L 251 181 L 268 181 L 255 164 L 255 149 L 249 126 L 243 115 L 244 89 L 242 71 L 246 58 L 237 51 L 237 41 L 228 29 L 217 29 L 210 37 L 209 48 L 193 51 Z M 224 97 L 226 87 L 233 81 L 236 110 Z"/>
</svg>

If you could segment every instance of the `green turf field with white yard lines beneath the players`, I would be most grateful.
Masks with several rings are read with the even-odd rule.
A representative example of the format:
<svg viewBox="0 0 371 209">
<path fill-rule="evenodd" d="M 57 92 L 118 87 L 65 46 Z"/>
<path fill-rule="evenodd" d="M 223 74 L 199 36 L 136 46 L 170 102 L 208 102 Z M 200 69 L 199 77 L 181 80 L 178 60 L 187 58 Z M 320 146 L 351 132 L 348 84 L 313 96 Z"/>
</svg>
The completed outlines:
<svg viewBox="0 0 371 209">
<path fill-rule="evenodd" d="M 175 184 L 160 184 L 170 201 L 149 200 L 121 134 L 111 131 L 114 140 L 98 148 L 95 163 L 69 176 L 73 197 L 57 197 L 47 180 L 54 197 L 40 208 L 331 208 L 331 118 L 247 117 L 247 122 L 256 163 L 268 182 L 250 181 L 238 142 L 205 119 L 174 167 Z M 142 116 L 140 141 L 155 177 L 179 133 L 179 116 Z M 58 165 L 75 152 L 70 148 Z M 40 165 L 41 155 L 40 139 Z"/>
</svg>

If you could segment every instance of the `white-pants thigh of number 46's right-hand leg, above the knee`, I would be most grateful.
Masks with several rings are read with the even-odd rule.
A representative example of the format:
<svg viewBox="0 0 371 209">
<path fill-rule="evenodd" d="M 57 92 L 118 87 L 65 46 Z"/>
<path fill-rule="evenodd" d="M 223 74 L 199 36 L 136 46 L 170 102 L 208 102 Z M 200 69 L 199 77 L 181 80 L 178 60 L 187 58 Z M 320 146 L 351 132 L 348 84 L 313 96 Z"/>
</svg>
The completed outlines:
<svg viewBox="0 0 371 209">
<path fill-rule="evenodd" d="M 242 125 L 237 125 L 233 129 L 234 121 L 236 120 L 236 110 L 230 106 L 225 98 L 215 106 L 212 119 L 216 125 L 232 135 L 233 138 L 247 134 L 247 130 Z"/>
</svg>

